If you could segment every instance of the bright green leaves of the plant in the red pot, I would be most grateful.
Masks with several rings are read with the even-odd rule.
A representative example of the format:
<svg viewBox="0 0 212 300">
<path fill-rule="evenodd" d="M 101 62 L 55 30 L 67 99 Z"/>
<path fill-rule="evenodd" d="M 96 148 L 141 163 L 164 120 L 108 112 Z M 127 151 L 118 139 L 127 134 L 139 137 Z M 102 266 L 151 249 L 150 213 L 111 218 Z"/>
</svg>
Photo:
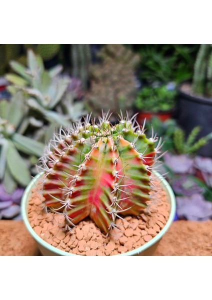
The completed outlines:
<svg viewBox="0 0 212 300">
<path fill-rule="evenodd" d="M 168 111 L 175 105 L 175 90 L 169 90 L 166 85 L 157 87 L 145 86 L 135 99 L 135 107 L 142 111 Z"/>
</svg>

